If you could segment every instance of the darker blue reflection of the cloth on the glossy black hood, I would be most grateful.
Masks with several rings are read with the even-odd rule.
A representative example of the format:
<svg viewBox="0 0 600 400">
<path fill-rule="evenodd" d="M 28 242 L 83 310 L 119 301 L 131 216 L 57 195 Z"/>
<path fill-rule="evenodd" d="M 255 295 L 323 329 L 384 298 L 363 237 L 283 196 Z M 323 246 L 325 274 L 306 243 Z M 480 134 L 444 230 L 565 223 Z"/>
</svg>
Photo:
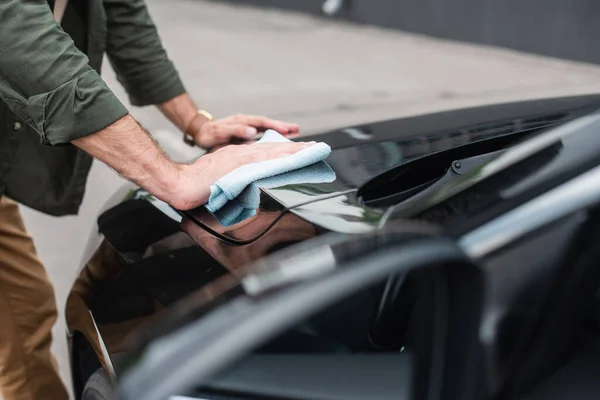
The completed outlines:
<svg viewBox="0 0 600 400">
<path fill-rule="evenodd" d="M 236 198 L 213 212 L 219 224 L 232 226 L 256 215 L 260 206 L 260 188 L 275 188 L 286 185 L 330 183 L 335 181 L 335 172 L 324 162 L 269 177 L 248 185 Z"/>
</svg>

